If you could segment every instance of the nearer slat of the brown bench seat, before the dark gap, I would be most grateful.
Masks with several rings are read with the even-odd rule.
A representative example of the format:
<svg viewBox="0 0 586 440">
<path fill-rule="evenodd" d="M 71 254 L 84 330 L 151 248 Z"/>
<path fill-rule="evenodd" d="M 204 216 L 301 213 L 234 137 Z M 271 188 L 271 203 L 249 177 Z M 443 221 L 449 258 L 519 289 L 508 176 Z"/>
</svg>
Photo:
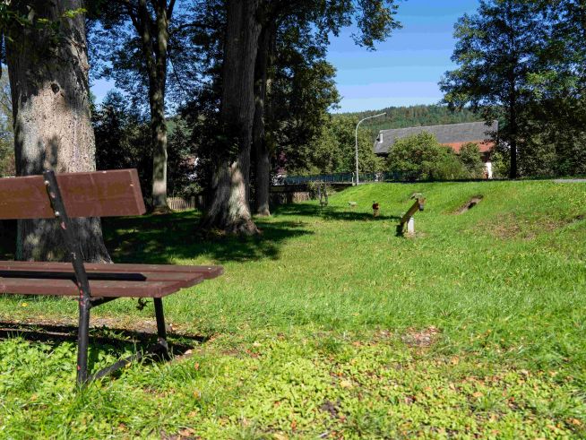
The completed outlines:
<svg viewBox="0 0 586 440">
<path fill-rule="evenodd" d="M 193 284 L 203 278 L 192 280 Z M 90 280 L 92 297 L 162 298 L 182 289 L 184 282 L 172 281 L 113 281 Z M 44 280 L 0 278 L 0 292 L 22 295 L 59 295 L 79 297 L 80 292 L 73 280 Z"/>
</svg>

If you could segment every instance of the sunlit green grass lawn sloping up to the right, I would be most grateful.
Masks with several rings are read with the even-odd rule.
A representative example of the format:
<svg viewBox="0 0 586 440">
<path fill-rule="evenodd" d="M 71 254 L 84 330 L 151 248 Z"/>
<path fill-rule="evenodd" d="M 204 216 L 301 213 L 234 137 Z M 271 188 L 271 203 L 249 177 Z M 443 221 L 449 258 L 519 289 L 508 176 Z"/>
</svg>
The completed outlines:
<svg viewBox="0 0 586 440">
<path fill-rule="evenodd" d="M 416 192 L 417 234 L 396 237 Z M 363 185 L 245 239 L 198 218 L 104 220 L 118 263 L 225 267 L 165 299 L 171 362 L 77 391 L 74 335 L 27 336 L 75 324 L 76 303 L 0 298 L 0 327 L 30 323 L 0 340 L 1 438 L 586 436 L 586 185 Z M 145 347 L 151 309 L 92 311 L 94 370 Z"/>
</svg>

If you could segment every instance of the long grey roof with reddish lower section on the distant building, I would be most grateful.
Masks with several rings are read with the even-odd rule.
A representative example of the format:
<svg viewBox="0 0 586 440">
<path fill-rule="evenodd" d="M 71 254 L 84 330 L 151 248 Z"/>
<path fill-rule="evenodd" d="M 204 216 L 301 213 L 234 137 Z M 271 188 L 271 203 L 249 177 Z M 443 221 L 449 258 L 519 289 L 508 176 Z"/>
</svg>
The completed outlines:
<svg viewBox="0 0 586 440">
<path fill-rule="evenodd" d="M 491 125 L 486 125 L 484 122 L 466 122 L 381 130 L 375 141 L 375 154 L 386 156 L 397 139 L 424 132 L 434 134 L 437 142 L 452 147 L 456 152 L 459 152 L 465 143 L 475 142 L 478 143 L 481 152 L 487 153 L 494 144 L 490 141 L 490 137 L 492 133 L 498 132 L 498 121 L 493 121 Z"/>
</svg>

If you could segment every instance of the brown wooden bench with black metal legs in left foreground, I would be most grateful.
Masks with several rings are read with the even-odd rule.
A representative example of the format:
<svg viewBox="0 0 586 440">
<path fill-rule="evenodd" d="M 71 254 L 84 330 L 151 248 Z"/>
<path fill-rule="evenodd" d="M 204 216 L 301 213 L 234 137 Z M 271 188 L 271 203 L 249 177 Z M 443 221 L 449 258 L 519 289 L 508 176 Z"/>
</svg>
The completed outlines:
<svg viewBox="0 0 586 440">
<path fill-rule="evenodd" d="M 124 367 L 127 358 L 88 376 L 90 309 L 116 298 L 153 298 L 158 344 L 168 356 L 162 298 L 218 277 L 220 266 L 83 263 L 72 217 L 116 217 L 145 212 L 135 169 L 0 179 L 0 219 L 56 219 L 72 263 L 0 262 L 0 292 L 77 297 L 79 332 L 77 383 Z"/>
</svg>

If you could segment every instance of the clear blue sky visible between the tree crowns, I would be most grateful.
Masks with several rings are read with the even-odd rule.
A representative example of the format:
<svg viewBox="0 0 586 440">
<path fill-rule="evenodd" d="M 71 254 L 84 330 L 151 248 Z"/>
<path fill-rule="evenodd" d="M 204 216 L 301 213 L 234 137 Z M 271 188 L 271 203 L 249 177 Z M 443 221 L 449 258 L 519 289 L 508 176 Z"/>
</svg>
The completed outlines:
<svg viewBox="0 0 586 440">
<path fill-rule="evenodd" d="M 328 60 L 337 69 L 340 108 L 336 111 L 376 110 L 390 106 L 433 104 L 442 98 L 437 82 L 453 68 L 453 24 L 474 13 L 478 0 L 401 0 L 397 19 L 403 29 L 368 52 L 343 30 L 332 38 Z M 112 82 L 99 80 L 91 91 L 98 102 Z"/>
</svg>

